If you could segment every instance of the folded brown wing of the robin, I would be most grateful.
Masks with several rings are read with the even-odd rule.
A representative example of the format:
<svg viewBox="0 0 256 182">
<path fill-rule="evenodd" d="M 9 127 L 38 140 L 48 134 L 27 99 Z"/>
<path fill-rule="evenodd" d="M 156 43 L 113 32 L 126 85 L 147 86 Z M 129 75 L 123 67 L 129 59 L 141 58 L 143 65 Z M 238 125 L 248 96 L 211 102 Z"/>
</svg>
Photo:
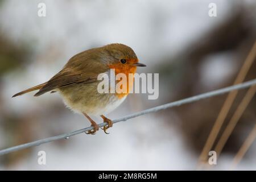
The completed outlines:
<svg viewBox="0 0 256 182">
<path fill-rule="evenodd" d="M 86 59 L 86 56 L 76 55 L 72 57 L 65 67 L 53 76 L 35 96 L 40 96 L 56 88 L 68 85 L 96 82 L 98 74 L 104 73 L 107 70 L 108 67 L 99 60 L 89 60 Z"/>
</svg>

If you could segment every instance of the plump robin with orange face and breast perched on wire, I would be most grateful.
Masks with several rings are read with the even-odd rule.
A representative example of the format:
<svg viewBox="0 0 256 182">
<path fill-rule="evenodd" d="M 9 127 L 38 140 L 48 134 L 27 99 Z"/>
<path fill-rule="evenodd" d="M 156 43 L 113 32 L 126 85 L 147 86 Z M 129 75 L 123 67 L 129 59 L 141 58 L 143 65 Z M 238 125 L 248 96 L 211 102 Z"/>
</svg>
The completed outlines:
<svg viewBox="0 0 256 182">
<path fill-rule="evenodd" d="M 99 127 L 89 115 L 100 115 L 107 123 L 102 130 L 106 132 L 113 126 L 113 121 L 106 114 L 117 108 L 129 94 L 129 86 L 125 93 L 99 93 L 97 79 L 101 73 L 110 74 L 114 69 L 115 75 L 124 73 L 129 78 L 129 73 L 136 73 L 137 67 L 146 67 L 139 63 L 137 55 L 132 48 L 125 44 L 113 43 L 106 46 L 88 49 L 71 57 L 63 69 L 43 84 L 16 93 L 13 97 L 38 90 L 35 97 L 44 93 L 59 93 L 64 104 L 75 113 L 83 114 L 91 123 L 92 130 L 86 134 L 96 134 Z M 110 77 L 110 82 L 113 78 Z M 133 83 L 134 79 L 128 82 Z M 116 82 L 116 80 L 114 80 Z M 128 83 L 127 82 L 127 83 Z"/>
</svg>

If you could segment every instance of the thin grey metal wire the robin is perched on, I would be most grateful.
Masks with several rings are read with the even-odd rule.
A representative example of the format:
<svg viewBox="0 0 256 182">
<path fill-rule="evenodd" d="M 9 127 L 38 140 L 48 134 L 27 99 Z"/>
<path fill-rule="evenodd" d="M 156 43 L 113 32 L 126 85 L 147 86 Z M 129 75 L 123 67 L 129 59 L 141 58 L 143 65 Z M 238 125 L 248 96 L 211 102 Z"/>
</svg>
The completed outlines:
<svg viewBox="0 0 256 182">
<path fill-rule="evenodd" d="M 135 117 L 138 117 L 140 115 L 154 113 L 156 111 L 164 110 L 164 109 L 167 109 L 167 108 L 170 108 L 170 107 L 180 106 L 180 105 L 183 105 L 183 104 L 188 104 L 188 103 L 191 103 L 191 102 L 199 101 L 199 100 L 202 100 L 204 98 L 210 98 L 210 97 L 218 96 L 220 94 L 228 93 L 228 92 L 233 91 L 233 90 L 247 88 L 251 85 L 256 85 L 256 79 L 250 80 L 250 81 L 247 81 L 247 82 L 243 82 L 242 84 L 237 84 L 237 85 L 233 85 L 233 86 L 228 86 L 226 88 L 214 90 L 212 92 L 199 94 L 197 96 L 184 98 L 183 100 L 170 102 L 168 104 L 152 107 L 150 109 L 146 109 L 146 110 L 140 111 L 138 113 L 130 114 L 130 115 L 127 115 L 127 116 L 122 117 L 122 118 L 113 119 L 112 121 L 113 121 L 113 123 L 117 123 L 117 122 L 121 122 L 121 121 L 127 121 L 128 119 L 135 118 Z M 104 122 L 104 123 L 100 123 L 98 126 L 103 127 L 103 126 L 106 126 L 106 125 L 107 125 L 107 123 Z M 86 127 L 84 129 L 80 129 L 80 130 L 77 130 L 77 131 L 72 131 L 70 133 L 56 135 L 54 137 L 44 138 L 44 139 L 36 140 L 36 141 L 30 142 L 30 143 L 20 144 L 18 146 L 14 146 L 14 147 L 10 147 L 10 148 L 6 148 L 6 149 L 1 150 L 0 155 L 9 154 L 10 152 L 19 151 L 19 150 L 22 150 L 22 149 L 28 148 L 28 147 L 39 146 L 40 144 L 53 142 L 53 141 L 59 140 L 59 139 L 69 138 L 69 137 L 72 137 L 74 135 L 81 134 L 81 133 L 84 133 L 85 131 L 89 131 L 89 130 L 92 130 L 92 129 L 93 129 L 92 126 L 91 127 Z"/>
</svg>

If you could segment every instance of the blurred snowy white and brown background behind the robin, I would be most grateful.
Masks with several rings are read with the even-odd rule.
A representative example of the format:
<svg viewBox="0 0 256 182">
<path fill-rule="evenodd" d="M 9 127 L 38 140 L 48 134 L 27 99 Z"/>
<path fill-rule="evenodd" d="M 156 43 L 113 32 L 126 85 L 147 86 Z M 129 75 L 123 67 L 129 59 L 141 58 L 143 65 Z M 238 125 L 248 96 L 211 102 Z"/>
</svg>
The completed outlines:
<svg viewBox="0 0 256 182">
<path fill-rule="evenodd" d="M 38 4 L 46 4 L 46 17 Z M 208 15 L 216 3 L 217 16 Z M 59 94 L 13 94 L 47 81 L 78 52 L 127 44 L 159 73 L 159 98 L 131 94 L 115 119 L 233 84 L 256 40 L 256 1 L 3 1 L 0 0 L 0 149 L 90 126 L 65 108 Z M 256 63 L 245 81 L 256 77 Z M 240 104 L 241 90 L 226 122 Z M 1 170 L 196 169 L 227 94 L 121 122 L 106 135 L 80 134 L 0 156 Z M 229 169 L 256 121 L 250 101 L 217 165 Z M 97 122 L 102 122 L 101 119 Z M 222 129 L 223 130 L 223 129 Z M 221 130 L 221 131 L 222 131 Z M 46 165 L 38 152 L 46 151 Z M 256 142 L 237 169 L 256 169 Z"/>
</svg>

